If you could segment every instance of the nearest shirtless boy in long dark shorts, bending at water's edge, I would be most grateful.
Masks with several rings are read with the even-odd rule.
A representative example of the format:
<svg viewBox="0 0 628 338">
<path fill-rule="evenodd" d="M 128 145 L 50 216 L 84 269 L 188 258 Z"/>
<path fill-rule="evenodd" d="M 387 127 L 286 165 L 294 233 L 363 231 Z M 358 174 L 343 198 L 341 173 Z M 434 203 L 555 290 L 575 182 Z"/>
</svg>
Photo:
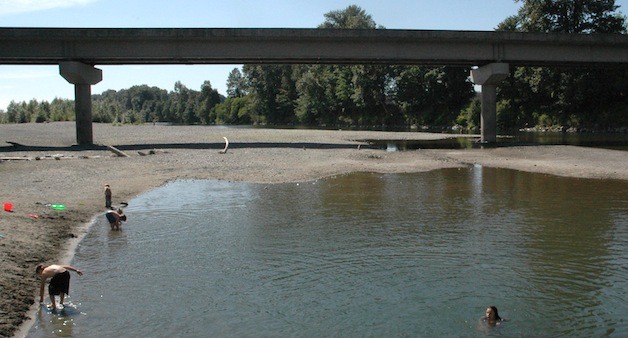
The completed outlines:
<svg viewBox="0 0 628 338">
<path fill-rule="evenodd" d="M 50 278 L 50 284 L 48 285 L 48 294 L 50 295 L 51 309 L 56 309 L 57 304 L 55 302 L 55 296 L 59 295 L 59 303 L 63 306 L 63 300 L 65 295 L 70 292 L 70 271 L 76 272 L 79 276 L 83 275 L 83 272 L 69 265 L 37 265 L 35 273 L 41 279 L 41 285 L 39 288 L 39 302 L 44 302 L 44 289 L 46 287 L 46 280 Z"/>
</svg>

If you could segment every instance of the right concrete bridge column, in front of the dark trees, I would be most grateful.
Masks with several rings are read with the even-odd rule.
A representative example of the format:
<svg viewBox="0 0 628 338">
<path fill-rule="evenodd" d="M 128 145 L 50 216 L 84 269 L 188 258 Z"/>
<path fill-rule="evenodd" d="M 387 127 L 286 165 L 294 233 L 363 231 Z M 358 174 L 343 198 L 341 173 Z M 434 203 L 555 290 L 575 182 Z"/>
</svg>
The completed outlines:
<svg viewBox="0 0 628 338">
<path fill-rule="evenodd" d="M 471 81 L 482 86 L 481 142 L 497 142 L 497 85 L 510 74 L 507 63 L 490 63 L 471 70 Z"/>
</svg>

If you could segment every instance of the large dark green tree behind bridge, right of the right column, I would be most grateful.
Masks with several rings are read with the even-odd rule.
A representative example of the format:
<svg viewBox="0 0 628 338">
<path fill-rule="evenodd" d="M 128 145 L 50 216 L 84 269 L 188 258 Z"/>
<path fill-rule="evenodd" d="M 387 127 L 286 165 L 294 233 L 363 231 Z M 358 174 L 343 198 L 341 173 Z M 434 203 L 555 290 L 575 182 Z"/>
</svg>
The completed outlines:
<svg viewBox="0 0 628 338">
<path fill-rule="evenodd" d="M 626 33 L 625 17 L 614 0 L 518 0 L 517 15 L 498 30 L 571 34 Z M 606 128 L 618 123 L 628 104 L 627 70 L 518 67 L 500 86 L 498 124 L 554 123 L 563 126 Z M 516 113 L 519 110 L 521 113 Z M 505 119 L 515 121 L 507 123 Z"/>
</svg>

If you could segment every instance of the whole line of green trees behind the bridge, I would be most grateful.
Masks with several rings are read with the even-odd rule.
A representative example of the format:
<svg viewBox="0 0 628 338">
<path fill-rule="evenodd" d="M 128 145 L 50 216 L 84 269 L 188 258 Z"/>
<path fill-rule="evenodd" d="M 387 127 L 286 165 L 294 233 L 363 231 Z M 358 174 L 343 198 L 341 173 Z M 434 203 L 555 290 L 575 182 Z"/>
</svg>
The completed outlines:
<svg viewBox="0 0 628 338">
<path fill-rule="evenodd" d="M 614 0 L 515 0 L 500 31 L 626 34 Z M 320 29 L 385 29 L 352 5 L 324 15 Z M 480 103 L 469 68 L 421 65 L 243 65 L 223 96 L 206 81 L 172 91 L 146 85 L 92 96 L 95 122 L 411 126 L 477 129 Z M 515 67 L 498 87 L 498 128 L 628 126 L 628 69 Z M 74 120 L 74 103 L 11 102 L 2 122 Z"/>
</svg>

